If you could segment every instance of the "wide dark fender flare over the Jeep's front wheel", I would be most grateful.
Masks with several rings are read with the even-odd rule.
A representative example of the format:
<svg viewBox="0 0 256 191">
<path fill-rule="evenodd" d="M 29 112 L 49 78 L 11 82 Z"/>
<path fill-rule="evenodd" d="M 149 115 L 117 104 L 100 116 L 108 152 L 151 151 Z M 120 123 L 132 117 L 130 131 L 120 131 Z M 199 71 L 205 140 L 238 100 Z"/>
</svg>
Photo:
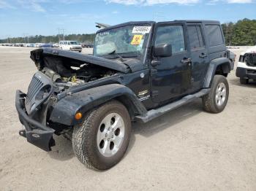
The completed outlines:
<svg viewBox="0 0 256 191">
<path fill-rule="evenodd" d="M 116 98 L 127 106 L 129 113 L 146 114 L 145 106 L 140 102 L 135 93 L 129 87 L 119 84 L 102 85 L 89 90 L 83 90 L 62 98 L 54 106 L 50 113 L 50 121 L 64 125 L 76 125 L 81 120 L 75 120 L 75 114 L 85 114 L 89 110 Z M 134 116 L 131 116 L 134 117 Z"/>
</svg>

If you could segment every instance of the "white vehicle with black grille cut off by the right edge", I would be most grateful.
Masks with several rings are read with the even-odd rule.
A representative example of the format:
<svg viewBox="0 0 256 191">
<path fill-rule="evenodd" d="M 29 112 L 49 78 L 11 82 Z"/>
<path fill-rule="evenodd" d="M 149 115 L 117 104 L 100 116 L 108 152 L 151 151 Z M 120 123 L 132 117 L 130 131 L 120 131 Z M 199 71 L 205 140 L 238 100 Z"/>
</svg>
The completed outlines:
<svg viewBox="0 0 256 191">
<path fill-rule="evenodd" d="M 240 78 L 241 84 L 247 84 L 249 79 L 256 80 L 256 46 L 242 52 L 239 56 L 236 77 Z"/>
</svg>

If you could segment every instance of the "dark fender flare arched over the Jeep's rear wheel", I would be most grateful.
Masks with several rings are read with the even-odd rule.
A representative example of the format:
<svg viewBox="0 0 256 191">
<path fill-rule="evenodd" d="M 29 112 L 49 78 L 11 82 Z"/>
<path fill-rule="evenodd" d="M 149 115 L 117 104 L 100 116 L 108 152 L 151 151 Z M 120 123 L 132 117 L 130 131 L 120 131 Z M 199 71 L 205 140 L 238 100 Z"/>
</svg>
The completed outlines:
<svg viewBox="0 0 256 191">
<path fill-rule="evenodd" d="M 204 88 L 211 87 L 211 82 L 216 74 L 217 67 L 221 66 L 224 74 L 230 73 L 231 61 L 228 58 L 216 58 L 209 63 L 208 70 L 206 72 L 205 82 L 203 83 Z"/>
</svg>

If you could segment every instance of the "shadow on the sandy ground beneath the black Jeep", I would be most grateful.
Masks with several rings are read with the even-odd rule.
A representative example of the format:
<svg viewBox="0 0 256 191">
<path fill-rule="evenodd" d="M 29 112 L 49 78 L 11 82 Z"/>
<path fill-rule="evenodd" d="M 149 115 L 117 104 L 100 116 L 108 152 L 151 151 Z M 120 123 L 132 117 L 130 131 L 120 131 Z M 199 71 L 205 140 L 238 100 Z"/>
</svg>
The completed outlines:
<svg viewBox="0 0 256 191">
<path fill-rule="evenodd" d="M 167 114 L 157 117 L 157 119 L 152 120 L 147 123 L 132 123 L 132 133 L 129 141 L 129 147 L 127 149 L 126 157 L 129 154 L 129 151 L 132 150 L 136 142 L 135 135 L 140 134 L 141 136 L 150 137 L 166 128 L 172 128 L 173 125 L 178 124 L 184 120 L 187 120 L 190 117 L 195 116 L 203 112 L 201 99 L 198 98 L 196 101 L 181 106 L 178 109 L 175 109 Z M 56 142 L 56 146 L 52 147 L 52 151 L 49 152 L 49 156 L 56 160 L 70 160 L 72 157 L 75 157 L 75 154 L 72 149 L 72 142 L 64 136 L 53 136 L 53 139 Z"/>
</svg>

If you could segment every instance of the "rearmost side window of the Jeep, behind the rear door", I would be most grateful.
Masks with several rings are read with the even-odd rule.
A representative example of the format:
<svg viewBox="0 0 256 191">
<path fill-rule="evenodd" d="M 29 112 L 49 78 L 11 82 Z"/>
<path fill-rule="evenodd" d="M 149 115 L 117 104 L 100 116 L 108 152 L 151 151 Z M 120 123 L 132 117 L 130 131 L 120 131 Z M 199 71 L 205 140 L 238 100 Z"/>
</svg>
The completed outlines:
<svg viewBox="0 0 256 191">
<path fill-rule="evenodd" d="M 220 26 L 206 25 L 206 35 L 208 36 L 210 47 L 224 44 Z"/>
</svg>

